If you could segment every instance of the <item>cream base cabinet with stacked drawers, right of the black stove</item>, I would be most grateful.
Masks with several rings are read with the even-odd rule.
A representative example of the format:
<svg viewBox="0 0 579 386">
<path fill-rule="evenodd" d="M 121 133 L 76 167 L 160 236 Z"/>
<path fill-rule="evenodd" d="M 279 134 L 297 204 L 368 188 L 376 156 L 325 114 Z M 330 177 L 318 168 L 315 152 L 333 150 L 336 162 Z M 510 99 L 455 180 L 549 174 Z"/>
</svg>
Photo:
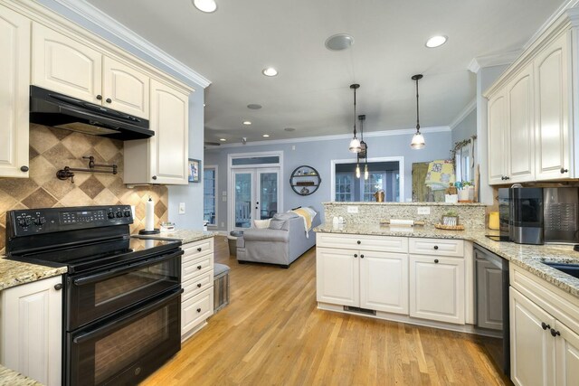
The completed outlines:
<svg viewBox="0 0 579 386">
<path fill-rule="evenodd" d="M 214 315 L 214 239 L 183 244 L 181 261 L 181 341 Z"/>
</svg>

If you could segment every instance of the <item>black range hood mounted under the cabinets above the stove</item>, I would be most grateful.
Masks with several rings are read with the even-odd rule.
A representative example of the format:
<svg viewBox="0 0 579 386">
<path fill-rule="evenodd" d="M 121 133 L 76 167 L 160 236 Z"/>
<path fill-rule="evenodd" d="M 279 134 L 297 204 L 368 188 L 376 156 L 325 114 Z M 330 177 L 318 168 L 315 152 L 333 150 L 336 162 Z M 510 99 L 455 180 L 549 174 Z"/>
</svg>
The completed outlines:
<svg viewBox="0 0 579 386">
<path fill-rule="evenodd" d="M 128 141 L 153 137 L 148 120 L 30 86 L 30 122 Z"/>
</svg>

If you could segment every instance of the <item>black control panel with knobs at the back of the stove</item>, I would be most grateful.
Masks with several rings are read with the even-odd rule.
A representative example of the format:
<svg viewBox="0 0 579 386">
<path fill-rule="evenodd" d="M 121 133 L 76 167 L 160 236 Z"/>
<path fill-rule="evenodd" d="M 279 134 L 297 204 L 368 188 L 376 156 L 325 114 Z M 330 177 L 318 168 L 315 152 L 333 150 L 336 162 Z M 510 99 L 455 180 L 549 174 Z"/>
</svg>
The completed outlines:
<svg viewBox="0 0 579 386">
<path fill-rule="evenodd" d="M 6 216 L 9 237 L 133 223 L 130 205 L 24 209 Z"/>
</svg>

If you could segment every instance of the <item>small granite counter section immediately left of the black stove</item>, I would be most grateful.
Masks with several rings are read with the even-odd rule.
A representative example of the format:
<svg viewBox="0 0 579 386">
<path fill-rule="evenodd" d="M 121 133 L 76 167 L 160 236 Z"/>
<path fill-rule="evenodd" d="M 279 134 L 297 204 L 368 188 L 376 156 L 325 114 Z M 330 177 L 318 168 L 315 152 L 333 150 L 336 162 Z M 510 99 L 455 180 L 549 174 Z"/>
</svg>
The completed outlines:
<svg viewBox="0 0 579 386">
<path fill-rule="evenodd" d="M 64 273 L 66 273 L 66 267 L 53 268 L 2 258 L 0 259 L 0 291 Z"/>
</svg>

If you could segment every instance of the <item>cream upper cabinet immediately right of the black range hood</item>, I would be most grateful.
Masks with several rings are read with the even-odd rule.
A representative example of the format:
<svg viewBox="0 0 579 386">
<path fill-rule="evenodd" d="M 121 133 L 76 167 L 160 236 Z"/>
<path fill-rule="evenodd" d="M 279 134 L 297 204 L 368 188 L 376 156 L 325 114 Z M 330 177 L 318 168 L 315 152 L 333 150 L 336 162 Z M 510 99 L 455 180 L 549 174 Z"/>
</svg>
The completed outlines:
<svg viewBox="0 0 579 386">
<path fill-rule="evenodd" d="M 125 142 L 125 184 L 188 184 L 188 96 L 151 80 L 150 129 L 155 136 Z"/>
</svg>

